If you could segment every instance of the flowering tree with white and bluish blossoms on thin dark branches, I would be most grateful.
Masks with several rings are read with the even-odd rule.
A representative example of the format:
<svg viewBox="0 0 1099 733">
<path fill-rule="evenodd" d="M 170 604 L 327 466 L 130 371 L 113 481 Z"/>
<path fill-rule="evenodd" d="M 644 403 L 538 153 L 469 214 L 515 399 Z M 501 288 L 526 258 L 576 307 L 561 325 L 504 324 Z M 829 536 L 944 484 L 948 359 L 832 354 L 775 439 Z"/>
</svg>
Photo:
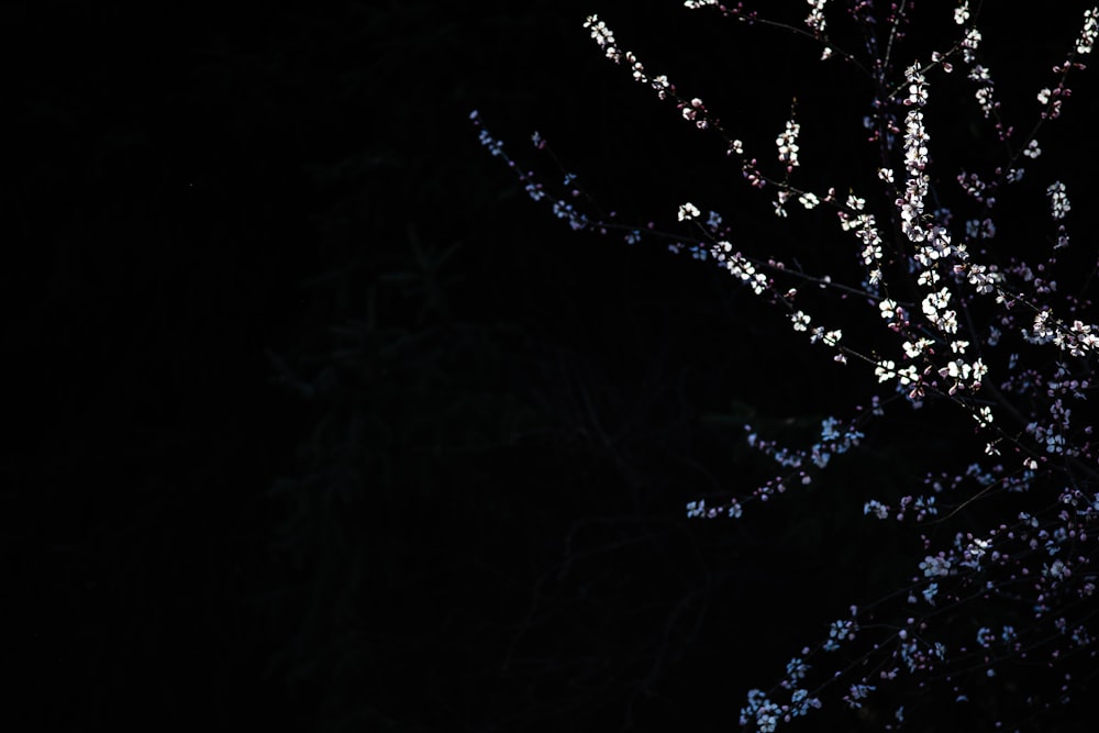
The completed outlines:
<svg viewBox="0 0 1099 733">
<path fill-rule="evenodd" d="M 1070 111 L 1070 82 L 1099 35 L 1099 8 L 1078 9 L 1076 26 L 1064 31 L 1063 56 L 1046 84 L 1030 90 L 1032 107 L 1009 115 L 984 51 L 980 13 L 969 2 L 932 10 L 943 14 L 948 34 L 913 32 L 922 19 L 909 2 L 877 8 L 852 0 L 832 9 L 809 0 L 808 14 L 802 9 L 792 19 L 740 2 L 684 4 L 815 44 L 821 63 L 841 65 L 866 92 L 865 137 L 875 163 L 857 179 L 865 190 L 850 181 L 815 189 L 802 182 L 809 180 L 799 145 L 806 113 L 797 105 L 765 154 L 700 97 L 620 46 L 602 19 L 584 24 L 608 59 L 721 140 L 774 215 L 831 219 L 850 246 L 833 255 L 830 269 L 739 241 L 721 211 L 703 213 L 690 201 L 669 207 L 668 229 L 604 215 L 576 176 L 566 174 L 559 189 L 545 185 L 504 152 L 478 113 L 471 120 L 530 197 L 573 230 L 618 234 L 630 244 L 664 241 L 673 252 L 713 263 L 779 309 L 807 347 L 829 349 L 835 368 L 865 376 L 867 399 L 825 419 L 811 445 L 779 445 L 746 426 L 747 443 L 777 464 L 774 478 L 743 496 L 698 498 L 688 515 L 748 521 L 753 503 L 811 485 L 887 413 L 935 411 L 935 420 L 964 421 L 975 448 L 962 466 L 929 465 L 922 493 L 879 496 L 854 508 L 866 521 L 899 523 L 919 537 L 907 585 L 852 606 L 800 648 L 774 685 L 748 691 L 741 725 L 766 733 L 830 700 L 861 709 L 879 698 L 876 709 L 888 710 L 881 724 L 893 730 L 932 692 L 964 703 L 992 684 L 1009 692 L 1002 707 L 987 711 L 997 728 L 1022 725 L 1070 701 L 1084 681 L 1074 664 L 1097 653 L 1090 623 L 1099 463 L 1087 409 L 1099 349 L 1099 325 L 1089 320 L 1097 257 L 1094 243 L 1079 244 L 1068 230 L 1073 209 L 1062 174 L 1070 162 L 1041 156 L 1043 141 Z M 920 46 L 921 38 L 929 45 Z M 976 164 L 935 157 L 940 84 L 968 87 L 965 111 L 989 141 Z M 533 143 L 548 153 L 537 133 Z M 1040 213 L 1028 213 L 1024 229 L 1017 209 Z M 1010 695 L 1020 670 L 1032 666 L 1050 685 Z"/>
</svg>

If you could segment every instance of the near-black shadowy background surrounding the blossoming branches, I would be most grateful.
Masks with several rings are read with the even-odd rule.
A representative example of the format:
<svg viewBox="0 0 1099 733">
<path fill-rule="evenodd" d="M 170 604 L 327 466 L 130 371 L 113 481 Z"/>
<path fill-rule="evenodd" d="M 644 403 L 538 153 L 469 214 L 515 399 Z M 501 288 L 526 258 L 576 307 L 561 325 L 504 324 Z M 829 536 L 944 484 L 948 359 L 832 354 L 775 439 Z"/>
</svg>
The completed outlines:
<svg viewBox="0 0 1099 733">
<path fill-rule="evenodd" d="M 541 131 L 624 220 L 692 200 L 829 262 L 581 23 L 765 155 L 797 96 L 811 188 L 862 180 L 867 92 L 679 5 L 5 5 L 12 730 L 729 730 L 903 577 L 858 508 L 953 436 L 687 521 L 774 473 L 745 422 L 804 445 L 865 375 L 717 268 L 570 232 L 469 124 L 557 182 Z"/>
</svg>

